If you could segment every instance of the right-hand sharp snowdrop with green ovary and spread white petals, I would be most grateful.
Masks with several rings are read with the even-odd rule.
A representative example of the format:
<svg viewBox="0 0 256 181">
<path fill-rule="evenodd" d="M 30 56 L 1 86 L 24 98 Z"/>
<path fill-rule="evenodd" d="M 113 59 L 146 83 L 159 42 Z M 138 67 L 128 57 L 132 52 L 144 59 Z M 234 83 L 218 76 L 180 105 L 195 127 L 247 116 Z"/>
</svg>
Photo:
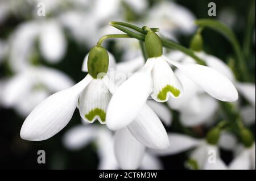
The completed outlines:
<svg viewBox="0 0 256 181">
<path fill-rule="evenodd" d="M 166 102 L 169 96 L 179 98 L 183 94 L 183 85 L 168 63 L 176 66 L 213 98 L 229 102 L 238 99 L 232 82 L 218 71 L 197 64 L 180 64 L 163 56 L 162 43 L 155 32 L 148 31 L 145 45 L 148 54 L 146 64 L 122 83 L 110 100 L 106 114 L 106 124 L 110 129 L 121 129 L 132 123 L 149 95 L 157 102 Z"/>
</svg>

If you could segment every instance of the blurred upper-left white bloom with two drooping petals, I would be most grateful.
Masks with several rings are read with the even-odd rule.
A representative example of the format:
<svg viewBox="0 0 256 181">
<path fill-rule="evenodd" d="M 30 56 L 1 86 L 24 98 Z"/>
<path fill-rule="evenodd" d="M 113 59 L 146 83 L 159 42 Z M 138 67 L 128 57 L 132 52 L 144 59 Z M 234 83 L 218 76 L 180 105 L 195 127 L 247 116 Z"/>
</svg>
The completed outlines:
<svg viewBox="0 0 256 181">
<path fill-rule="evenodd" d="M 10 66 L 20 71 L 30 64 L 35 52 L 36 39 L 42 56 L 51 63 L 63 58 L 67 43 L 60 24 L 56 20 L 36 20 L 19 25 L 10 39 Z"/>
</svg>

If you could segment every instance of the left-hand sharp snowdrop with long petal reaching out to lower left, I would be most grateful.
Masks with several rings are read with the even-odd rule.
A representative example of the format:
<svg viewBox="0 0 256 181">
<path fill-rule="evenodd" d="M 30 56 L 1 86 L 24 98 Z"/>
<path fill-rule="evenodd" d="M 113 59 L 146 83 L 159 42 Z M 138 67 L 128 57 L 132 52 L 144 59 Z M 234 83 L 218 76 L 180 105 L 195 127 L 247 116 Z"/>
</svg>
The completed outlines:
<svg viewBox="0 0 256 181">
<path fill-rule="evenodd" d="M 36 106 L 24 121 L 20 137 L 31 141 L 52 137 L 68 124 L 76 106 L 85 121 L 93 123 L 98 119 L 104 124 L 106 107 L 111 98 L 106 83 L 109 82 L 108 76 L 105 75 L 108 64 L 106 49 L 93 47 L 88 57 L 89 74 L 76 85 L 56 92 Z"/>
</svg>

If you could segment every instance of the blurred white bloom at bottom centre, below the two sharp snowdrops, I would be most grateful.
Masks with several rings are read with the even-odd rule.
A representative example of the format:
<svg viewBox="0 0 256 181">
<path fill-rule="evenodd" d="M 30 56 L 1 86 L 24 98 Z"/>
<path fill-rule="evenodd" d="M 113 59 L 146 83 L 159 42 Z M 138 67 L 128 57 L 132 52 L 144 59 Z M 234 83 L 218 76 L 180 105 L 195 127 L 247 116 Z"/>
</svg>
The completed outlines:
<svg viewBox="0 0 256 181">
<path fill-rule="evenodd" d="M 120 136 L 120 137 L 119 137 Z M 100 158 L 98 169 L 161 169 L 154 154 L 145 153 L 144 146 L 127 131 L 112 132 L 100 125 L 77 125 L 64 134 L 63 143 L 70 150 L 79 150 L 95 142 Z"/>
</svg>

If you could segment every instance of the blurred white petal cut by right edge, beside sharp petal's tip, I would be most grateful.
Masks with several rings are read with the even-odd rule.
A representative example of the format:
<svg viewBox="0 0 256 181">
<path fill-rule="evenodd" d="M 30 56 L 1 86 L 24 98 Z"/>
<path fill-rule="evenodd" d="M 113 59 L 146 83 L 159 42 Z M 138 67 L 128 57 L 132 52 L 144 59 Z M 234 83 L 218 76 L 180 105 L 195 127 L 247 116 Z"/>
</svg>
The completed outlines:
<svg viewBox="0 0 256 181">
<path fill-rule="evenodd" d="M 255 107 L 255 83 L 237 83 L 237 89 L 242 96 Z"/>
</svg>

